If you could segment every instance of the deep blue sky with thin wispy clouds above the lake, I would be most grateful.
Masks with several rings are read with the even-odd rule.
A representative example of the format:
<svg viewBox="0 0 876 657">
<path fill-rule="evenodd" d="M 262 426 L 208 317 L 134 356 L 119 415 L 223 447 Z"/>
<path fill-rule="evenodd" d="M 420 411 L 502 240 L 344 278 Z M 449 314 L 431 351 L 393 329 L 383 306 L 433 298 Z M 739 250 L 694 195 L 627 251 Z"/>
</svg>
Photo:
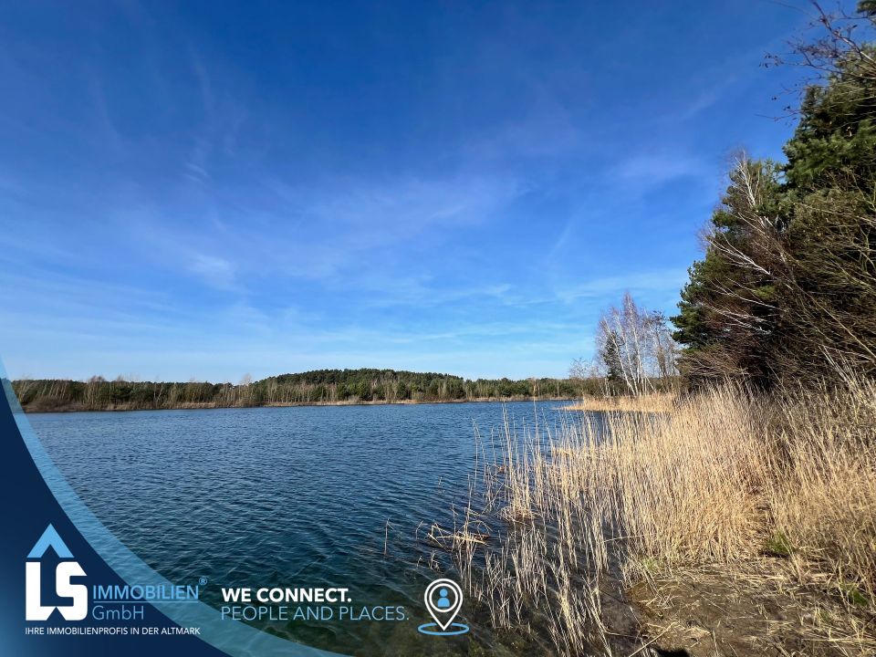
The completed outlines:
<svg viewBox="0 0 876 657">
<path fill-rule="evenodd" d="M 13 377 L 565 376 L 673 313 L 804 3 L 5 3 Z"/>
</svg>

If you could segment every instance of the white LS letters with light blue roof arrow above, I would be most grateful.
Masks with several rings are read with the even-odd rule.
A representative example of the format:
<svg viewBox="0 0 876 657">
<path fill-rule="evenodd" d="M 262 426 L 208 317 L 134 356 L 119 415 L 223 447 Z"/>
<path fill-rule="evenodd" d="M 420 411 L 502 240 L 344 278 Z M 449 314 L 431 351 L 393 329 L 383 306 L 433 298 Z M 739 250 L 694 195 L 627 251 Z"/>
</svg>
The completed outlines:
<svg viewBox="0 0 876 657">
<path fill-rule="evenodd" d="M 42 562 L 39 560 L 51 547 L 61 561 L 55 568 L 55 593 L 58 598 L 73 600 L 73 604 L 64 607 L 43 606 L 40 589 L 42 588 Z M 52 612 L 58 610 L 64 620 L 84 620 L 89 615 L 89 589 L 84 584 L 72 584 L 70 579 L 84 577 L 85 570 L 73 560 L 73 554 L 58 536 L 55 527 L 49 525 L 46 531 L 36 541 L 36 545 L 27 555 L 25 571 L 25 619 L 48 620 Z"/>
</svg>

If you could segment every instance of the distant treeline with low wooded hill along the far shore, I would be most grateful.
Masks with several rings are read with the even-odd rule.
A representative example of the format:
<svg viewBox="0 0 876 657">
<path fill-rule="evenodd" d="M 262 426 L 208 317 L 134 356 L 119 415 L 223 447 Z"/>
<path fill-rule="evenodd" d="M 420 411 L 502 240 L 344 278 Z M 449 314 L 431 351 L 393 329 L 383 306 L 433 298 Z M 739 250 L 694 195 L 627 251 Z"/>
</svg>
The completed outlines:
<svg viewBox="0 0 876 657">
<path fill-rule="evenodd" d="M 152 381 L 14 381 L 26 411 L 103 411 L 221 408 L 292 404 L 404 401 L 573 399 L 599 394 L 595 379 L 477 379 L 396 370 L 313 370 L 261 381 L 167 383 Z"/>
</svg>

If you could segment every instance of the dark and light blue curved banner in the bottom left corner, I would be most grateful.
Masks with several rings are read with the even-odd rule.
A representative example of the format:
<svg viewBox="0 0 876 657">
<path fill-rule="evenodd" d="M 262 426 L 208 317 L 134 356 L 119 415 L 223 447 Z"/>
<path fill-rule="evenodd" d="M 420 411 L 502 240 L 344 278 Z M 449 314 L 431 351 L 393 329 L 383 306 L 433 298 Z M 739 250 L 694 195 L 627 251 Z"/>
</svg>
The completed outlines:
<svg viewBox="0 0 876 657">
<path fill-rule="evenodd" d="M 0 363 L 0 495 L 7 537 L 0 541 L 4 587 L 0 631 L 4 653 L 14 655 L 186 655 L 235 657 L 332 657 L 294 641 L 222 619 L 197 600 L 150 600 L 148 634 L 107 633 L 106 622 L 82 616 L 76 582 L 101 586 L 174 590 L 115 537 L 68 484 L 36 437 Z M 73 560 L 75 559 L 75 560 Z M 56 578 L 51 574 L 57 573 Z M 42 576 L 40 576 L 40 573 Z M 185 582 L 185 584 L 189 584 Z M 125 589 L 129 590 L 129 589 Z M 47 616 L 47 620 L 32 620 Z M 27 620 L 26 620 L 27 619 Z M 112 623 L 131 628 L 135 624 Z M 195 631 L 196 629 L 196 631 Z M 60 633 L 59 633 L 60 632 Z"/>
</svg>

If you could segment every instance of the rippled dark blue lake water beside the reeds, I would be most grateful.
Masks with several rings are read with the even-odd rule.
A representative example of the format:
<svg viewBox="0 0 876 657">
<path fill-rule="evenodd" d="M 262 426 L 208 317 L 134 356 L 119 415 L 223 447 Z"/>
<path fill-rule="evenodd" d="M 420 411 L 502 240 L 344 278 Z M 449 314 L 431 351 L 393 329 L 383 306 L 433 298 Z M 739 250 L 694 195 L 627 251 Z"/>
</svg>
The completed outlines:
<svg viewBox="0 0 876 657">
<path fill-rule="evenodd" d="M 349 587 L 401 622 L 265 622 L 281 636 L 358 655 L 443 654 L 476 641 L 516 654 L 466 602 L 471 634 L 424 638 L 422 591 L 449 561 L 422 537 L 453 525 L 474 472 L 474 425 L 490 452 L 503 409 L 558 422 L 561 401 L 45 413 L 28 416 L 96 516 L 172 582 Z M 496 436 L 496 447 L 503 442 Z M 492 454 L 489 454 L 492 460 Z M 418 539 L 419 538 L 419 539 Z M 451 574 L 452 575 L 452 574 Z M 458 579 L 458 578 L 455 578 Z M 471 647 L 471 646 L 469 646 Z"/>
</svg>

